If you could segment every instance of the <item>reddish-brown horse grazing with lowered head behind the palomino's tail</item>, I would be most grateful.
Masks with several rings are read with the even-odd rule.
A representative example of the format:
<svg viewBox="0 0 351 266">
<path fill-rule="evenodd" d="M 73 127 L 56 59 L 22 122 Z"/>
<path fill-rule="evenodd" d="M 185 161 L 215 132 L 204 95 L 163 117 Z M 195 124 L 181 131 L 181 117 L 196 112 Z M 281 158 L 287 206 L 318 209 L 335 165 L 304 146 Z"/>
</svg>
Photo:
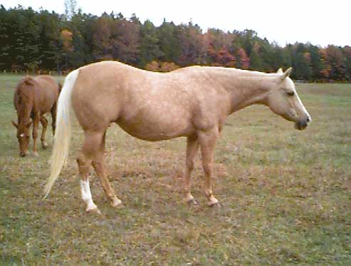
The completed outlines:
<svg viewBox="0 0 351 266">
<path fill-rule="evenodd" d="M 53 118 L 52 126 L 53 134 L 55 134 L 56 106 L 60 90 L 61 85 L 54 81 L 51 76 L 37 76 L 36 78 L 26 76 L 17 85 L 14 93 L 14 106 L 17 111 L 18 123 L 14 121 L 12 123 L 17 128 L 21 156 L 26 156 L 28 153 L 29 128 L 31 123 L 33 123 L 34 155 L 38 155 L 36 139 L 38 138 L 39 121 L 43 126 L 41 145 L 43 145 L 44 149 L 47 147 L 45 133 L 48 121 L 43 115 L 49 111 Z"/>
</svg>

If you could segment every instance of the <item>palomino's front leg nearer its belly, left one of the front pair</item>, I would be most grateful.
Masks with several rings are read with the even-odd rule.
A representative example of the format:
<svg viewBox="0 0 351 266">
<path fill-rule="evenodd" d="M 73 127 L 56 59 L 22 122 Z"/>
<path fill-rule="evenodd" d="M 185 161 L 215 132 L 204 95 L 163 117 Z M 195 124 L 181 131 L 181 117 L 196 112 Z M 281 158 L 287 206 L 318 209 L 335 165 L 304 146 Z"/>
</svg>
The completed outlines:
<svg viewBox="0 0 351 266">
<path fill-rule="evenodd" d="M 197 135 L 192 135 L 187 138 L 187 158 L 185 161 L 185 174 L 183 179 L 183 188 L 185 197 L 184 200 L 187 203 L 194 203 L 197 204 L 196 200 L 192 196 L 190 192 L 191 189 L 191 180 L 190 177 L 192 175 L 192 170 L 194 168 L 194 158 L 197 154 L 197 150 L 199 149 L 199 142 L 197 140 Z"/>
</svg>

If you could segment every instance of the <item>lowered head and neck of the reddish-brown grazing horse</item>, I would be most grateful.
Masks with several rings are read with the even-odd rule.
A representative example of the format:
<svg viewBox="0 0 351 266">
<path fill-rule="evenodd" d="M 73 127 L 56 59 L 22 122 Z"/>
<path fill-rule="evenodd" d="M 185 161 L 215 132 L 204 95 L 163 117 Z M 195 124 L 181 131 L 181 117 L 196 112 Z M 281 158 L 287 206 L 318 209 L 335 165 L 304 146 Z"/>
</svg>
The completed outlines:
<svg viewBox="0 0 351 266">
<path fill-rule="evenodd" d="M 33 107 L 33 87 L 34 81 L 31 77 L 23 78 L 16 87 L 14 94 L 14 105 L 17 111 L 18 123 L 12 121 L 17 128 L 17 138 L 19 140 L 20 155 L 28 154 L 28 144 L 30 140 L 29 128 L 31 126 L 31 109 Z"/>
</svg>

